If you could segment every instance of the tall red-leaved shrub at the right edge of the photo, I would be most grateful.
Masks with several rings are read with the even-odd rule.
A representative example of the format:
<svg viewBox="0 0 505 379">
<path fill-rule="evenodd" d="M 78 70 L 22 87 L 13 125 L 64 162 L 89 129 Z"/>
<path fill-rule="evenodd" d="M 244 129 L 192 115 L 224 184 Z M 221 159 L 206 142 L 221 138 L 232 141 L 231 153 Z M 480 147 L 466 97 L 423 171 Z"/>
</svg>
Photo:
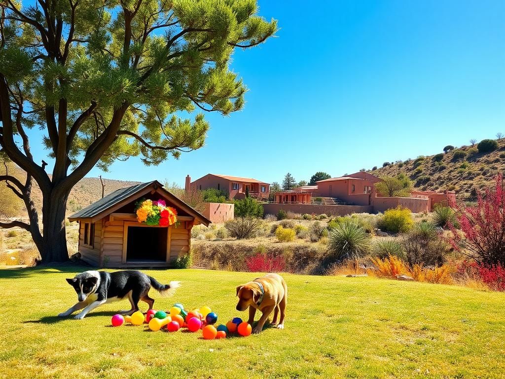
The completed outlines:
<svg viewBox="0 0 505 379">
<path fill-rule="evenodd" d="M 449 225 L 452 247 L 485 267 L 505 266 L 505 193 L 501 174 L 484 198 L 479 194 L 476 206 L 457 209 L 461 231 Z"/>
</svg>

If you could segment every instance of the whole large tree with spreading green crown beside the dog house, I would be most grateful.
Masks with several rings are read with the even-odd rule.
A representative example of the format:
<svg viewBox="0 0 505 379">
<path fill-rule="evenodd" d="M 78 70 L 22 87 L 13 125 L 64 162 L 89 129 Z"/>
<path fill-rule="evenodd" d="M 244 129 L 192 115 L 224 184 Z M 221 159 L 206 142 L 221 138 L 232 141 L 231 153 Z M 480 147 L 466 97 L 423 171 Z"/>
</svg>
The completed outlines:
<svg viewBox="0 0 505 379">
<path fill-rule="evenodd" d="M 275 20 L 256 0 L 0 0 L 0 145 L 25 172 L 1 175 L 27 208 L 42 261 L 68 259 L 66 203 L 91 168 L 141 156 L 158 165 L 204 145 L 195 109 L 228 115 L 245 86 L 228 68 L 236 48 L 265 41 Z M 44 130 L 52 172 L 35 161 L 29 132 Z M 33 141 L 40 143 L 40 141 Z M 51 167 L 51 166 L 49 166 Z M 47 170 L 49 171 L 49 170 Z M 42 230 L 32 200 L 42 192 Z"/>
</svg>

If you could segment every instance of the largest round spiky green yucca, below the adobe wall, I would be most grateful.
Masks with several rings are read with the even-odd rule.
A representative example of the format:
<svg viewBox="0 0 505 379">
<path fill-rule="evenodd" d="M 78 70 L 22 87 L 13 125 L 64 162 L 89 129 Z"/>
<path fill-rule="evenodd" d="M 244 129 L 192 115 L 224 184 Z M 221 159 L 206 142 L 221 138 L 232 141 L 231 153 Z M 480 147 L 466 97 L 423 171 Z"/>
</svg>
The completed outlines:
<svg viewBox="0 0 505 379">
<path fill-rule="evenodd" d="M 328 250 L 339 261 L 364 257 L 370 250 L 370 235 L 354 222 L 344 222 L 328 234 Z"/>
</svg>

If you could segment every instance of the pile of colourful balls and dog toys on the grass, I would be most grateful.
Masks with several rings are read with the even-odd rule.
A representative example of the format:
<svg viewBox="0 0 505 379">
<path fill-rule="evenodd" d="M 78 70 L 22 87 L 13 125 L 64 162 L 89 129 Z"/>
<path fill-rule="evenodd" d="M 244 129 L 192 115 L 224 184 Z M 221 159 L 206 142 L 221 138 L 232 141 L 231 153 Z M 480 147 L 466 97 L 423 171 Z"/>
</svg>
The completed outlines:
<svg viewBox="0 0 505 379">
<path fill-rule="evenodd" d="M 111 323 L 112 326 L 121 326 L 125 322 L 137 326 L 146 323 L 149 329 L 153 331 L 164 329 L 174 332 L 180 328 L 187 328 L 194 333 L 201 329 L 205 340 L 226 338 L 233 334 L 247 337 L 251 334 L 251 325 L 242 321 L 239 317 L 228 321 L 226 325 L 220 324 L 216 327 L 214 325 L 217 321 L 218 315 L 208 306 L 187 312 L 182 304 L 174 304 L 169 312 L 149 309 L 145 316 L 140 311 L 136 311 L 131 316 L 125 317 L 115 314 L 112 316 Z"/>
</svg>

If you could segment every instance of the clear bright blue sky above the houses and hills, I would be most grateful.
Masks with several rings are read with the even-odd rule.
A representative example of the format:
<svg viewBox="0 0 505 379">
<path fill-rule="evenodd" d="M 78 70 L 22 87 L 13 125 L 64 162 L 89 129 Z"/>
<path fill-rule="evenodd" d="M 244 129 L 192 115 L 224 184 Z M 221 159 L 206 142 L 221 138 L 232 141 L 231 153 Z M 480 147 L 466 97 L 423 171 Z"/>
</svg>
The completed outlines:
<svg viewBox="0 0 505 379">
<path fill-rule="evenodd" d="M 207 173 L 309 180 L 505 133 L 505 2 L 259 0 L 281 30 L 237 51 L 243 111 L 211 123 L 206 146 L 87 176 L 184 183 Z M 36 151 L 42 156 L 42 151 Z"/>
</svg>

